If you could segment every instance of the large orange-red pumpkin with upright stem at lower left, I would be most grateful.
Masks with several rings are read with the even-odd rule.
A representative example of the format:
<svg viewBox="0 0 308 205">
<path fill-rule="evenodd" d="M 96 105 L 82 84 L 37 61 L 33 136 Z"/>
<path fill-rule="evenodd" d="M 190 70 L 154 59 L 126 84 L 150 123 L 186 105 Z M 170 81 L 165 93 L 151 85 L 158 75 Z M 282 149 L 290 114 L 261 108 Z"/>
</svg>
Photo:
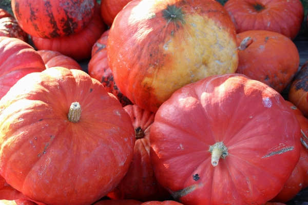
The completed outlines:
<svg viewBox="0 0 308 205">
<path fill-rule="evenodd" d="M 79 107 L 78 120 L 71 111 Z M 28 74 L 0 100 L 0 116 L 0 174 L 32 200 L 91 204 L 128 170 L 135 142 L 130 117 L 84 71 Z"/>
</svg>

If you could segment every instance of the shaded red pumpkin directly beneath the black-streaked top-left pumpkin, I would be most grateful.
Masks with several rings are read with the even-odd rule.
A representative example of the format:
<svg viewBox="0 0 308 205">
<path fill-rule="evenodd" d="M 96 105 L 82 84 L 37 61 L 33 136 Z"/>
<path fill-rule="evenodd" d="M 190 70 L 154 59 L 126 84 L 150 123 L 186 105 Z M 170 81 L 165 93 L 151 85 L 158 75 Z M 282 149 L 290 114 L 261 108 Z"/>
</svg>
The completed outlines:
<svg viewBox="0 0 308 205">
<path fill-rule="evenodd" d="M 106 30 L 100 6 L 95 6 L 93 18 L 80 32 L 59 38 L 42 38 L 31 36 L 34 46 L 38 50 L 52 50 L 80 61 L 91 57 L 91 49 L 97 39 Z"/>
</svg>

